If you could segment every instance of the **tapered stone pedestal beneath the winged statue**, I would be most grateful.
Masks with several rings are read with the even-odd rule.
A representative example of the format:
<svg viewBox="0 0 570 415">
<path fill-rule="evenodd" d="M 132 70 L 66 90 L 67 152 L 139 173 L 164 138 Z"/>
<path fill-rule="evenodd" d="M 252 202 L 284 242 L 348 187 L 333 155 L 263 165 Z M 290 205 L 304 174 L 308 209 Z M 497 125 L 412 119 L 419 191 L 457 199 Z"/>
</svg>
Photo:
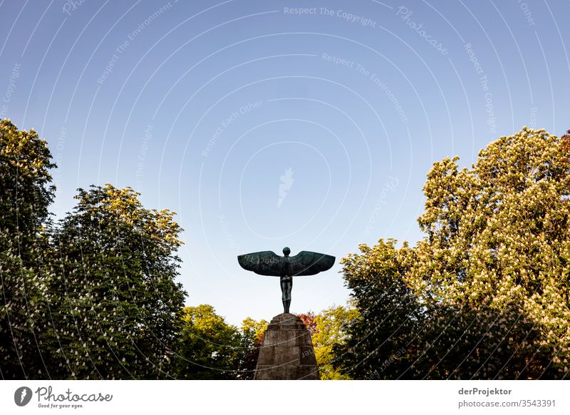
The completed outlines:
<svg viewBox="0 0 570 415">
<path fill-rule="evenodd" d="M 254 379 L 321 379 L 311 334 L 299 317 L 273 317 L 261 342 Z"/>
</svg>

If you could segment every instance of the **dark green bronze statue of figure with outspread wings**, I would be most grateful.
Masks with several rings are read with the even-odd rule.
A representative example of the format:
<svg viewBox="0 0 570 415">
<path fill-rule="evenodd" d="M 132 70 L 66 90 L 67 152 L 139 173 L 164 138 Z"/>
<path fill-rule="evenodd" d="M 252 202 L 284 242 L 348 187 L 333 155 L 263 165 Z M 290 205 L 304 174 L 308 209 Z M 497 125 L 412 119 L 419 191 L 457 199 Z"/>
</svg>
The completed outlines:
<svg viewBox="0 0 570 415">
<path fill-rule="evenodd" d="M 319 254 L 318 252 L 301 251 L 294 257 L 289 257 L 291 250 L 283 248 L 284 257 L 273 251 L 252 252 L 238 255 L 237 261 L 244 270 L 253 271 L 259 275 L 281 277 L 281 300 L 284 312 L 289 312 L 291 305 L 291 289 L 293 277 L 315 275 L 321 271 L 330 270 L 335 257 Z"/>
</svg>

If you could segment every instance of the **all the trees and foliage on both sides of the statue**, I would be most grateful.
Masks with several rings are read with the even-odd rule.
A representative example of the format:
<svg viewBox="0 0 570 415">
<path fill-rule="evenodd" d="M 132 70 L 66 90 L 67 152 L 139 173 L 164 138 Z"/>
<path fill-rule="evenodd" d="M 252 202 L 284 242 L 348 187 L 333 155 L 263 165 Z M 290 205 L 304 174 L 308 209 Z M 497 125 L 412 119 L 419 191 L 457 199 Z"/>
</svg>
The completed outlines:
<svg viewBox="0 0 570 415">
<path fill-rule="evenodd" d="M 570 131 L 458 161 L 427 173 L 422 240 L 360 245 L 348 306 L 300 314 L 322 379 L 568 377 Z M 268 323 L 184 307 L 175 213 L 107 184 L 54 222 L 53 168 L 0 121 L 1 378 L 252 379 Z"/>
</svg>

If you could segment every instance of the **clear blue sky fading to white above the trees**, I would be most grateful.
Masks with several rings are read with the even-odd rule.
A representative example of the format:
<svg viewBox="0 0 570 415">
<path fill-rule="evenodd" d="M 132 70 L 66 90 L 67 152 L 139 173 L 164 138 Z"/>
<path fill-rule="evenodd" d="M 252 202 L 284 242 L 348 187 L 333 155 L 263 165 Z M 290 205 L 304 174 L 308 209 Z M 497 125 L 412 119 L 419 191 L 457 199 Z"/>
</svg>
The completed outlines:
<svg viewBox="0 0 570 415">
<path fill-rule="evenodd" d="M 177 212 L 187 304 L 282 311 L 236 256 L 336 257 L 292 312 L 346 304 L 340 260 L 423 237 L 432 163 L 524 125 L 570 128 L 569 1 L 9 1 L 0 117 L 38 131 L 51 211 L 111 183 Z"/>
</svg>

